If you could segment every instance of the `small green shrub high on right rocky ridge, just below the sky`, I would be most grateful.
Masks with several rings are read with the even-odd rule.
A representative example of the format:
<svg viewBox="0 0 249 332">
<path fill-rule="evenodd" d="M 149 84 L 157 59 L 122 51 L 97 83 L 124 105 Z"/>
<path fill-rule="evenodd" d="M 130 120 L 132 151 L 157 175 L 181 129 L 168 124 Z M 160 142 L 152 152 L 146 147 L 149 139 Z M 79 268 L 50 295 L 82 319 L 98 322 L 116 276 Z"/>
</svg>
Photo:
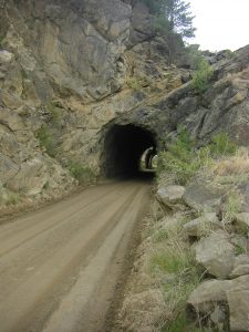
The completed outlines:
<svg viewBox="0 0 249 332">
<path fill-rule="evenodd" d="M 210 64 L 204 59 L 198 63 L 197 71 L 193 77 L 193 85 L 199 93 L 205 93 L 209 87 L 214 70 Z"/>
</svg>

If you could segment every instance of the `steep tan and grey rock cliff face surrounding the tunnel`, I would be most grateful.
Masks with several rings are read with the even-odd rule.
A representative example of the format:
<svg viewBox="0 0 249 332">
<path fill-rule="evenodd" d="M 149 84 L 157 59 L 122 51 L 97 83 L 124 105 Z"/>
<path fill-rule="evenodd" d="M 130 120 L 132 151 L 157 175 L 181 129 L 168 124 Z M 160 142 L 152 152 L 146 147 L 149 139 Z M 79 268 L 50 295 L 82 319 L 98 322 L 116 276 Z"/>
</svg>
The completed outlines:
<svg viewBox="0 0 249 332">
<path fill-rule="evenodd" d="M 1 0 L 0 20 L 4 201 L 69 188 L 72 163 L 100 174 L 114 124 L 146 128 L 156 142 L 179 123 L 201 142 L 220 127 L 249 139 L 248 48 L 216 64 L 200 96 L 180 87 L 188 71 L 167 65 L 167 39 L 139 1 Z"/>
</svg>

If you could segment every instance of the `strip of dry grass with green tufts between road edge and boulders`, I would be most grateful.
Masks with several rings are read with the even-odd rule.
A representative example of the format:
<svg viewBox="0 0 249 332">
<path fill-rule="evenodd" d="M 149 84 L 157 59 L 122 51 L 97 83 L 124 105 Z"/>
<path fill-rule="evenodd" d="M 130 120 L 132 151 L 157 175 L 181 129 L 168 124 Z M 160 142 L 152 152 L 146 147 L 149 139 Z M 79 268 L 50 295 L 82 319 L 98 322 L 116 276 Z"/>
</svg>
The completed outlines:
<svg viewBox="0 0 249 332">
<path fill-rule="evenodd" d="M 186 300 L 200 281 L 201 272 L 185 239 L 184 216 L 167 216 L 152 228 L 152 248 L 147 272 L 158 280 L 167 308 L 167 319 L 158 322 L 158 331 L 183 331 L 188 318 Z"/>
</svg>

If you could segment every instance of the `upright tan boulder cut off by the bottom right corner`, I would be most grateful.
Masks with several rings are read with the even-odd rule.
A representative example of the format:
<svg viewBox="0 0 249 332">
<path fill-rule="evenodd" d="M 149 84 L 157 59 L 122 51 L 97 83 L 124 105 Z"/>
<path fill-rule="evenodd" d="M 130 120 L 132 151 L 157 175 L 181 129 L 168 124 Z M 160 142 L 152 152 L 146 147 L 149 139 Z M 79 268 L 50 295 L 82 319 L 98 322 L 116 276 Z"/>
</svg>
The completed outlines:
<svg viewBox="0 0 249 332">
<path fill-rule="evenodd" d="M 226 290 L 229 305 L 230 331 L 249 331 L 249 276 L 232 280 Z"/>
</svg>

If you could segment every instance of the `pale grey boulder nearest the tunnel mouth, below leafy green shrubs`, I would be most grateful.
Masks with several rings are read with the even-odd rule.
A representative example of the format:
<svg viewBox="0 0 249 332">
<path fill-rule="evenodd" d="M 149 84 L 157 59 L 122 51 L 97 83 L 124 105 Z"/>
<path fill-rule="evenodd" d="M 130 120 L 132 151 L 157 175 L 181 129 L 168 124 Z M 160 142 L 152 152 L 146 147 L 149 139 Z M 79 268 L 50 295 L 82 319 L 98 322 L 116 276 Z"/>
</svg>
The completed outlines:
<svg viewBox="0 0 249 332">
<path fill-rule="evenodd" d="M 185 187 L 181 186 L 167 186 L 160 187 L 157 190 L 157 199 L 164 207 L 169 209 L 183 209 L 184 201 L 183 196 L 185 194 Z"/>
</svg>

